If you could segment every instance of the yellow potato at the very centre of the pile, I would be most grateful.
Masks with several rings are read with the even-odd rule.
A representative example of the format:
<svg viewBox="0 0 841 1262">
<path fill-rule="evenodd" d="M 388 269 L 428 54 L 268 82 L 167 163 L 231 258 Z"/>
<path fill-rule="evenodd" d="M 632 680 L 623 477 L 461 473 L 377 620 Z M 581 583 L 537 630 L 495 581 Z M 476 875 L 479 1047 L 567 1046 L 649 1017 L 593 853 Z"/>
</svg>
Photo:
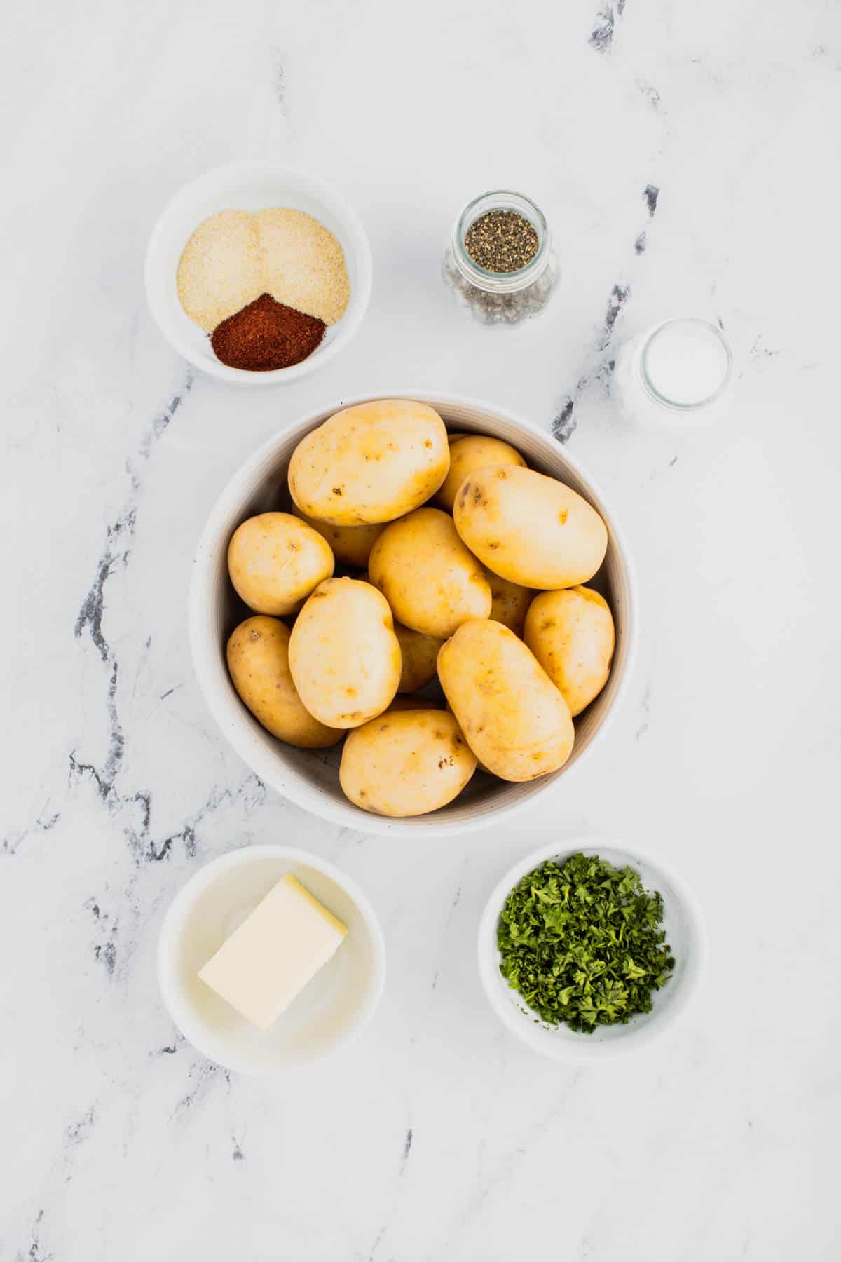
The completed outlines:
<svg viewBox="0 0 841 1262">
<path fill-rule="evenodd" d="M 490 584 L 440 509 L 416 509 L 383 530 L 368 574 L 412 631 L 446 640 L 468 618 L 490 613 Z"/>
</svg>

